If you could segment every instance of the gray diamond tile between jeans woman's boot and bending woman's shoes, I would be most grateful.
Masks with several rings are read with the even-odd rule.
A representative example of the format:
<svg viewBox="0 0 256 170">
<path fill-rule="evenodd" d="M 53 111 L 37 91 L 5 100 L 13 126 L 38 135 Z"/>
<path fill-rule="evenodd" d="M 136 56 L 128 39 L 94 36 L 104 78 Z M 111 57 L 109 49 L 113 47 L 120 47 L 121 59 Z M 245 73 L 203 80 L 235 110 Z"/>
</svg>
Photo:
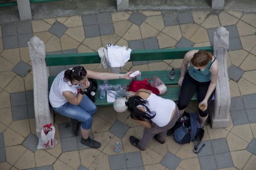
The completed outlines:
<svg viewBox="0 0 256 170">
<path fill-rule="evenodd" d="M 126 126 L 122 122 L 116 120 L 109 132 L 122 139 L 127 130 L 129 130 L 129 126 Z"/>
</svg>

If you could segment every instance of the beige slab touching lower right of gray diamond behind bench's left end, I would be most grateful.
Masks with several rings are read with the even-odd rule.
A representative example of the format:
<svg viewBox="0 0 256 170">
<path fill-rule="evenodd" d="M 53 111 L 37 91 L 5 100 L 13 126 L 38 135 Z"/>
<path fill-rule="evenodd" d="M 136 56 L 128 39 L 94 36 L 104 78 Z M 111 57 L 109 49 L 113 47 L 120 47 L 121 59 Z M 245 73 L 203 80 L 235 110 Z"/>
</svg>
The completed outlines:
<svg viewBox="0 0 256 170">
<path fill-rule="evenodd" d="M 60 44 L 62 50 L 69 50 L 76 49 L 80 45 L 80 42 L 64 34 L 60 37 Z"/>
</svg>

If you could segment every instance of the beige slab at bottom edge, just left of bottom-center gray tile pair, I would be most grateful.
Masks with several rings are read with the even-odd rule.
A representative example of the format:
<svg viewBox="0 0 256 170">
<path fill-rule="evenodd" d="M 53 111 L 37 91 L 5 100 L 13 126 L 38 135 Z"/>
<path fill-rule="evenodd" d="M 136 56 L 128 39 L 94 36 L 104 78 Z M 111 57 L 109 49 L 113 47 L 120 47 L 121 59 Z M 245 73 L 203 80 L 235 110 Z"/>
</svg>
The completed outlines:
<svg viewBox="0 0 256 170">
<path fill-rule="evenodd" d="M 109 170 L 110 169 L 109 157 L 107 155 L 101 153 L 100 155 L 98 155 L 98 158 L 92 163 L 92 165 L 90 165 L 89 169 Z"/>
</svg>

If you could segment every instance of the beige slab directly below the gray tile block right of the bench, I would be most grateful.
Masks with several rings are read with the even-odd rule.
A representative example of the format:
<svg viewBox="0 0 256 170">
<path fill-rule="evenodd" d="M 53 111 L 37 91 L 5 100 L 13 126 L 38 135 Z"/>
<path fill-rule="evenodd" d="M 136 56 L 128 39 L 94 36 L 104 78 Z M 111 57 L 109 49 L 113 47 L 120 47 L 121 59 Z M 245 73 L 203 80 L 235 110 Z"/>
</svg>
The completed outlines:
<svg viewBox="0 0 256 170">
<path fill-rule="evenodd" d="M 234 126 L 231 132 L 248 143 L 253 139 L 253 133 L 249 124 Z"/>
</svg>

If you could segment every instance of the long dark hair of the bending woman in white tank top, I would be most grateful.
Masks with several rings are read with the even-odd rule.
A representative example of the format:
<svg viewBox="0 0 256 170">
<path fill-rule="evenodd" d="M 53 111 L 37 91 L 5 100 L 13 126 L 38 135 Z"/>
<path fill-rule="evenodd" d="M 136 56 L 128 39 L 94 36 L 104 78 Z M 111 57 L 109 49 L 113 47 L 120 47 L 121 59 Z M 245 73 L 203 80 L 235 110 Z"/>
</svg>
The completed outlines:
<svg viewBox="0 0 256 170">
<path fill-rule="evenodd" d="M 155 117 L 155 112 L 151 112 L 150 109 L 147 107 L 147 100 L 143 100 L 142 97 L 140 96 L 131 96 L 129 99 L 126 101 L 126 105 L 128 107 L 128 111 L 131 112 L 131 118 L 135 120 L 151 120 L 151 118 Z M 137 108 L 138 105 L 142 105 L 146 109 L 146 112 L 143 112 Z M 150 114 L 153 114 L 151 116 Z"/>
</svg>

